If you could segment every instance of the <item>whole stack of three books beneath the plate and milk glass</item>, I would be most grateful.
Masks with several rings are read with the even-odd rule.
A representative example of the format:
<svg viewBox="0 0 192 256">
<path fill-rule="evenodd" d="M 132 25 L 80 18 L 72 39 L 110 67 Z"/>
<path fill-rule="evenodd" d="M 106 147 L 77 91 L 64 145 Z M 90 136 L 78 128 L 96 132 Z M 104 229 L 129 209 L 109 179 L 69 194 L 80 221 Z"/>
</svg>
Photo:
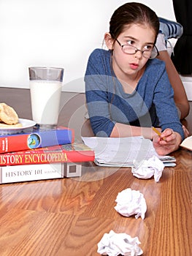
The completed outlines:
<svg viewBox="0 0 192 256">
<path fill-rule="evenodd" d="M 94 158 L 66 127 L 0 135 L 0 184 L 81 176 L 82 162 Z"/>
</svg>

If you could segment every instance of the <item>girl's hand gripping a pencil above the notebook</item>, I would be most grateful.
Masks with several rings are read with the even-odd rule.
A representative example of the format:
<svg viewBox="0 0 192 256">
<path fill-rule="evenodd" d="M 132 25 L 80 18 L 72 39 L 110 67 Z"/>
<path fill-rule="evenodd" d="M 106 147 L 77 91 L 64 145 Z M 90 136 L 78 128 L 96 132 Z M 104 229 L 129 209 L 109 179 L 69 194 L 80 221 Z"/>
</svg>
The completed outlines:
<svg viewBox="0 0 192 256">
<path fill-rule="evenodd" d="M 153 137 L 153 146 L 159 155 L 166 155 L 177 150 L 181 143 L 181 135 L 172 129 L 165 129 L 161 136 Z"/>
</svg>

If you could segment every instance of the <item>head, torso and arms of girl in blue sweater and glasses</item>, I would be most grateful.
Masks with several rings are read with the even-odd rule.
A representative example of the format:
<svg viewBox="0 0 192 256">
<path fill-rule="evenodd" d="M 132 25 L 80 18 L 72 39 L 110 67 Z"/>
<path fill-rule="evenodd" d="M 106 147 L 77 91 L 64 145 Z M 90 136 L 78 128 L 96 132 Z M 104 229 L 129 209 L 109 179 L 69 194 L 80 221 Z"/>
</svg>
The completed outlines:
<svg viewBox="0 0 192 256">
<path fill-rule="evenodd" d="M 177 150 L 184 134 L 165 64 L 155 59 L 158 29 L 157 15 L 144 4 L 115 10 L 104 35 L 109 50 L 93 50 L 88 59 L 85 94 L 96 136 L 142 135 L 164 155 Z"/>
</svg>

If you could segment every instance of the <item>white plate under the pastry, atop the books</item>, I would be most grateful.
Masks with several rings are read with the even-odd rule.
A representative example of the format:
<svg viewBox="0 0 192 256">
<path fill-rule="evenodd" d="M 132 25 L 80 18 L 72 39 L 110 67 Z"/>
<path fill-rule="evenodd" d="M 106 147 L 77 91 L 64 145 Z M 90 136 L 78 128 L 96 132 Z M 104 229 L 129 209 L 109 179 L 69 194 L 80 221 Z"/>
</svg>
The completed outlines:
<svg viewBox="0 0 192 256">
<path fill-rule="evenodd" d="M 19 118 L 19 123 L 22 124 L 22 127 L 0 127 L 0 135 L 10 135 L 10 134 L 15 134 L 19 132 L 23 132 L 24 130 L 28 129 L 28 132 L 30 132 L 31 127 L 34 127 L 36 124 L 35 121 L 28 120 L 28 119 L 22 119 Z"/>
</svg>

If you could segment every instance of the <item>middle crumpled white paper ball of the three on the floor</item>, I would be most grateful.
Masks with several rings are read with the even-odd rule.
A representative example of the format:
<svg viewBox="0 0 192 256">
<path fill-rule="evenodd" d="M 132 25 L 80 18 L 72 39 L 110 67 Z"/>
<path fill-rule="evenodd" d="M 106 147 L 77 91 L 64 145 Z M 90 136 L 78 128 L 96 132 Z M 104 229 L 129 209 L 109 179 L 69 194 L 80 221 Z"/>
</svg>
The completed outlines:
<svg viewBox="0 0 192 256">
<path fill-rule="evenodd" d="M 144 196 L 139 191 L 131 190 L 130 188 L 125 189 L 118 193 L 115 202 L 117 203 L 115 210 L 118 211 L 119 214 L 125 217 L 136 214 L 136 219 L 139 217 L 145 219 L 147 204 Z"/>
</svg>

